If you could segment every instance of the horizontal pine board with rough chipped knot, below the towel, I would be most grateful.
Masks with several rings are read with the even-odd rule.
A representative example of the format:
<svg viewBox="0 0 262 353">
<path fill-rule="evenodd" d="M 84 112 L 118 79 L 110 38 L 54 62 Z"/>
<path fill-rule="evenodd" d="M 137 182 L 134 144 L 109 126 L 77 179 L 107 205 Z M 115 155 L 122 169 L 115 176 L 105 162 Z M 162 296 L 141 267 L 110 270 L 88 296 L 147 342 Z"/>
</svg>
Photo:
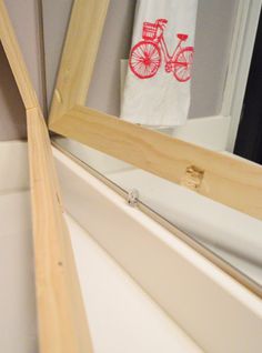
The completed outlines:
<svg viewBox="0 0 262 353">
<path fill-rule="evenodd" d="M 262 219 L 262 168 L 258 164 L 80 105 L 50 129 Z"/>
</svg>

